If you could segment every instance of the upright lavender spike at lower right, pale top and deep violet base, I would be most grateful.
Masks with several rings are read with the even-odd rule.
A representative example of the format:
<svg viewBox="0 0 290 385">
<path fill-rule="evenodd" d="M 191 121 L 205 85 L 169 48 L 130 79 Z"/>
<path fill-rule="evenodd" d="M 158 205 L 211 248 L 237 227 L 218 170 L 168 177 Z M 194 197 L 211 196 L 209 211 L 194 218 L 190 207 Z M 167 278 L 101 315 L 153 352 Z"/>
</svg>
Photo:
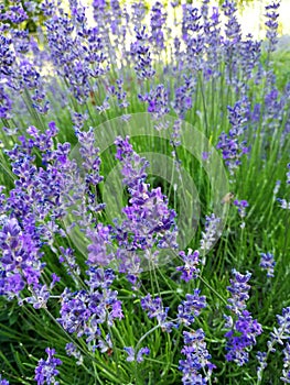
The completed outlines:
<svg viewBox="0 0 290 385">
<path fill-rule="evenodd" d="M 256 344 L 256 337 L 262 332 L 261 324 L 253 319 L 251 314 L 246 310 L 246 301 L 249 298 L 248 280 L 250 273 L 243 275 L 236 270 L 233 270 L 230 286 L 227 290 L 232 297 L 228 299 L 227 309 L 230 310 L 230 316 L 224 316 L 226 319 L 225 328 L 229 329 L 225 337 L 226 344 L 226 360 L 233 361 L 237 365 L 243 366 L 249 360 L 249 350 Z"/>
</svg>

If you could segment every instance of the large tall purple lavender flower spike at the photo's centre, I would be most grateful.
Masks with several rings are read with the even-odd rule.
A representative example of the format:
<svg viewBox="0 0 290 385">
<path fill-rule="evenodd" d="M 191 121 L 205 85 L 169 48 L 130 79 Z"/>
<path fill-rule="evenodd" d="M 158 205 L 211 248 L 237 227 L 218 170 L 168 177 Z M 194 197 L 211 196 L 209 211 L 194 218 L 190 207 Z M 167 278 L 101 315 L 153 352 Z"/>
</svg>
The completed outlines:
<svg viewBox="0 0 290 385">
<path fill-rule="evenodd" d="M 146 168 L 149 163 L 133 152 L 129 138 L 117 138 L 116 157 L 121 162 L 123 184 L 130 194 L 129 205 L 123 208 L 126 219 L 115 221 L 114 238 L 118 243 L 119 271 L 127 273 L 135 285 L 141 272 L 140 256 L 144 262 L 155 261 L 159 249 L 176 249 L 178 230 L 175 211 L 169 209 L 168 198 L 161 188 L 150 189 L 146 184 Z"/>
</svg>

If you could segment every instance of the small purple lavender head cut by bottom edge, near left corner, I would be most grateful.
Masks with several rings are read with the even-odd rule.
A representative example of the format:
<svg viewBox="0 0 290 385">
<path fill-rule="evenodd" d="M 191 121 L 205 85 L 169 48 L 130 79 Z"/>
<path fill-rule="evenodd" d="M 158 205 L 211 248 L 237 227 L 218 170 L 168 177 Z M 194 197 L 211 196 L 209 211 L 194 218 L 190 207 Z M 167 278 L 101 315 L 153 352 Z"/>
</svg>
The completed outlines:
<svg viewBox="0 0 290 385">
<path fill-rule="evenodd" d="M 56 376 L 60 374 L 60 371 L 56 369 L 62 365 L 62 361 L 60 359 L 55 359 L 55 350 L 46 348 L 45 352 L 47 353 L 47 359 L 41 359 L 39 361 L 37 366 L 35 367 L 35 377 L 34 380 L 37 382 L 37 385 L 44 384 L 54 384 L 58 385 L 58 381 L 56 381 Z"/>
</svg>

